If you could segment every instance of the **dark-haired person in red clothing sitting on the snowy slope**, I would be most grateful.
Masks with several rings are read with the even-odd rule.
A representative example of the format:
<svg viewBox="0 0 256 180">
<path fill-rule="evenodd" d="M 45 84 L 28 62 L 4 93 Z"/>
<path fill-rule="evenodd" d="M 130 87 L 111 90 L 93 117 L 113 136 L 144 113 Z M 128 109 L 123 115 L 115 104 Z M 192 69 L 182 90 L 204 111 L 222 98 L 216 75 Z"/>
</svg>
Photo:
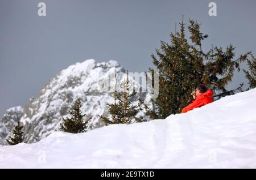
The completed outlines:
<svg viewBox="0 0 256 180">
<path fill-rule="evenodd" d="M 189 110 L 200 108 L 201 106 L 207 105 L 210 102 L 213 102 L 213 92 L 211 89 L 207 90 L 207 87 L 205 87 L 203 84 L 197 85 L 197 88 L 195 91 L 191 93 L 193 98 L 193 102 L 182 109 L 181 113 L 187 113 Z"/>
</svg>

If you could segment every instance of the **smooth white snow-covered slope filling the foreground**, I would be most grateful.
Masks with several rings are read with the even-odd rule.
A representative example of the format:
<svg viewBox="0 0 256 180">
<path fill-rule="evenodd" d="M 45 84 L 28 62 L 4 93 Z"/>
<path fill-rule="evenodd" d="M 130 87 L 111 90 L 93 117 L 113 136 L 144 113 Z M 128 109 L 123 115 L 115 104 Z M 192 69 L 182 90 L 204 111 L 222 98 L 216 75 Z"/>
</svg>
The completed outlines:
<svg viewBox="0 0 256 180">
<path fill-rule="evenodd" d="M 166 119 L 0 147 L 0 168 L 256 168 L 256 89 Z"/>
</svg>

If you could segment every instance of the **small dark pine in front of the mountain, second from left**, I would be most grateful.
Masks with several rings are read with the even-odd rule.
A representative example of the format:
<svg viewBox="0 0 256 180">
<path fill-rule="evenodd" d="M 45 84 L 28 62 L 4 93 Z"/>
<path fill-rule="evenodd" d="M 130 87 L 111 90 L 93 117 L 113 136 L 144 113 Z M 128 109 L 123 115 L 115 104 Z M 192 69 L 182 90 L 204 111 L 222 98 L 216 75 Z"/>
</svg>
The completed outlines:
<svg viewBox="0 0 256 180">
<path fill-rule="evenodd" d="M 63 118 L 63 123 L 60 125 L 60 131 L 70 132 L 70 133 L 80 133 L 86 132 L 87 121 L 84 121 L 86 114 L 81 114 L 81 100 L 77 98 L 75 106 L 72 110 L 69 110 L 70 118 Z"/>
</svg>

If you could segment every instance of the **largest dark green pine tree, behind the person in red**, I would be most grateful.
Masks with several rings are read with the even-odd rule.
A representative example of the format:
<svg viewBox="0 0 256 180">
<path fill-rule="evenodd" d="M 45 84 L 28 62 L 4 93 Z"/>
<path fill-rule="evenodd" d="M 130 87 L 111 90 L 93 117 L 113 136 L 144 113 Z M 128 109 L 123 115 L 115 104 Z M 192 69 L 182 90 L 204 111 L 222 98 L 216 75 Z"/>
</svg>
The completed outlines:
<svg viewBox="0 0 256 180">
<path fill-rule="evenodd" d="M 238 87 L 228 91 L 225 87 L 232 80 L 234 70 L 240 70 L 240 62 L 245 61 L 250 52 L 236 60 L 233 45 L 229 45 L 225 52 L 216 46 L 204 53 L 202 41 L 208 35 L 200 32 L 200 24 L 194 20 L 189 20 L 188 30 L 192 43 L 189 44 L 185 38 L 185 24 L 182 20 L 180 32 L 170 35 L 171 44 L 161 41 L 161 50 L 156 49 L 157 57 L 151 55 L 159 73 L 159 96 L 154 100 L 158 118 L 180 113 L 191 103 L 191 92 L 198 84 L 211 88 L 215 99 L 241 90 Z"/>
</svg>

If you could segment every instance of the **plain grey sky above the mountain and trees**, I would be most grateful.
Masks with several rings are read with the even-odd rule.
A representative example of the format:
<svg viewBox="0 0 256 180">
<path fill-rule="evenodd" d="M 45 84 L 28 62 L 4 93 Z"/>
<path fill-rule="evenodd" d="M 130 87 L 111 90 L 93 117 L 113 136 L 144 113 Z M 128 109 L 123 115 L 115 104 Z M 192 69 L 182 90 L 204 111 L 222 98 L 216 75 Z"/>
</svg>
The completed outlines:
<svg viewBox="0 0 256 180">
<path fill-rule="evenodd" d="M 38 16 L 38 3 L 46 16 Z M 217 16 L 208 15 L 209 2 Z M 170 42 L 175 22 L 198 20 L 210 45 L 256 54 L 256 1 L 0 0 L 0 116 L 36 97 L 44 84 L 76 62 L 117 60 L 130 72 L 152 67 L 160 40 Z M 245 66 L 243 66 L 245 67 Z M 230 88 L 247 82 L 236 73 Z"/>
</svg>

